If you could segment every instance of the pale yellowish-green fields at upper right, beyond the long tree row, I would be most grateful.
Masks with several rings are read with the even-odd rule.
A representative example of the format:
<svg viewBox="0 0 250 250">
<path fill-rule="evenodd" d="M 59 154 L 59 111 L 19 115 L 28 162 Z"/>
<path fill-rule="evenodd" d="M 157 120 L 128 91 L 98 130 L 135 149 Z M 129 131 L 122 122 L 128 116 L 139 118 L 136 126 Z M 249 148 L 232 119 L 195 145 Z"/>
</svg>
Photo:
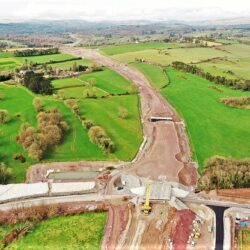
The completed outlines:
<svg viewBox="0 0 250 250">
<path fill-rule="evenodd" d="M 187 44 L 169 44 L 168 47 L 167 43 L 154 43 L 154 46 L 151 43 L 149 45 L 142 43 L 112 46 L 103 48 L 101 51 L 127 64 L 135 63 L 138 59 L 158 66 L 170 65 L 173 61 L 182 61 L 196 64 L 206 72 L 229 79 L 250 79 L 248 70 L 250 46 L 230 40 L 224 42 L 225 44 L 223 40 L 210 42 L 207 47 L 192 47 Z M 149 71 L 146 67 L 150 67 L 138 64 L 134 66 L 146 74 Z"/>
</svg>

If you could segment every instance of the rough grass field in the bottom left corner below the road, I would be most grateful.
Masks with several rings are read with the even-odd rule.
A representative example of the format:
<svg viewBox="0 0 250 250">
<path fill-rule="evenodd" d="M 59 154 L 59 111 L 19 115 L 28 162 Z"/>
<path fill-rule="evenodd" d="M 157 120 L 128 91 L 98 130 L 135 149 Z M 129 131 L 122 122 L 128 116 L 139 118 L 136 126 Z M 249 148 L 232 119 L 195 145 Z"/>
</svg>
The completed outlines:
<svg viewBox="0 0 250 250">
<path fill-rule="evenodd" d="M 106 223 L 106 213 L 62 216 L 38 223 L 26 236 L 6 249 L 97 250 Z"/>
</svg>

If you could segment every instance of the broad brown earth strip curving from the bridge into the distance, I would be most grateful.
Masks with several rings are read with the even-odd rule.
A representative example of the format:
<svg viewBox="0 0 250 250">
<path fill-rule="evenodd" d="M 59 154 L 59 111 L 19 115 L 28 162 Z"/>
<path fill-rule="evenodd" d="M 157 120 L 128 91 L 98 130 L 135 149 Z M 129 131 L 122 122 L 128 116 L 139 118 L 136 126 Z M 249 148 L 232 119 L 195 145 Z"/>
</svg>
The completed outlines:
<svg viewBox="0 0 250 250">
<path fill-rule="evenodd" d="M 122 172 L 142 177 L 157 179 L 166 176 L 169 181 L 180 181 L 194 185 L 197 180 L 196 169 L 190 166 L 191 151 L 184 125 L 177 112 L 148 82 L 138 70 L 116 62 L 99 53 L 78 47 L 62 47 L 64 53 L 85 57 L 110 67 L 139 87 L 141 100 L 141 117 L 143 132 L 147 138 L 144 149 L 139 152 L 137 160 Z M 151 123 L 151 115 L 172 117 L 174 122 Z M 117 176 L 110 181 L 110 192 Z"/>
</svg>

